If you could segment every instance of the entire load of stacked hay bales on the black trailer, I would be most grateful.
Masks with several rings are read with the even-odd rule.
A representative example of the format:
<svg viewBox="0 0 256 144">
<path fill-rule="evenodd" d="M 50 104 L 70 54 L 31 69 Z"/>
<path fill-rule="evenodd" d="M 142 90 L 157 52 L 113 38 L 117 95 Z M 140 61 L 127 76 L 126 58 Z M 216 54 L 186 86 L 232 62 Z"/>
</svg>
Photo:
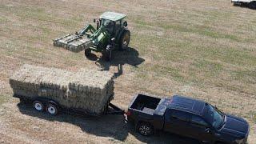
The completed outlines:
<svg viewBox="0 0 256 144">
<path fill-rule="evenodd" d="M 66 108 L 102 114 L 114 95 L 112 74 L 107 71 L 67 70 L 24 65 L 10 78 L 15 95 L 50 98 Z"/>
</svg>

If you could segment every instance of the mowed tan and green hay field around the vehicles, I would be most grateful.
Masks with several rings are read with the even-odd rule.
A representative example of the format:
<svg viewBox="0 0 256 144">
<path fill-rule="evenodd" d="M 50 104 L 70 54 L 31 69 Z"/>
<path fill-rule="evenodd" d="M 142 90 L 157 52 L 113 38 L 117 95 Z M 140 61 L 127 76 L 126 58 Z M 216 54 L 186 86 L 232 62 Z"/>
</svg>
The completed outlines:
<svg viewBox="0 0 256 144">
<path fill-rule="evenodd" d="M 52 39 L 82 29 L 106 10 L 126 14 L 131 31 L 130 50 L 115 52 L 114 61 L 52 46 Z M 12 98 L 9 85 L 14 70 L 27 63 L 110 70 L 117 77 L 113 103 L 123 109 L 139 92 L 205 100 L 246 118 L 249 143 L 256 143 L 255 39 L 256 10 L 229 0 L 1 0 L 0 142 L 194 142 L 171 134 L 144 138 L 121 115 L 38 114 Z"/>
</svg>

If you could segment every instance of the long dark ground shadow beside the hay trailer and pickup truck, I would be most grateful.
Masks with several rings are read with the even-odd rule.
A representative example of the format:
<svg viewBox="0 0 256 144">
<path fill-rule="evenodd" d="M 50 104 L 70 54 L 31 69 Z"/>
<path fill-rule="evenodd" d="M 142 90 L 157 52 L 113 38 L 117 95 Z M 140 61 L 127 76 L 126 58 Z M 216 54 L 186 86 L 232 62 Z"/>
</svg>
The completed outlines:
<svg viewBox="0 0 256 144">
<path fill-rule="evenodd" d="M 82 131 L 100 137 L 110 138 L 110 141 L 124 142 L 128 134 L 132 134 L 140 142 L 146 143 L 171 143 L 171 144 L 194 144 L 197 143 L 190 138 L 182 138 L 174 134 L 155 134 L 152 137 L 143 137 L 134 130 L 134 126 L 124 121 L 123 115 L 103 115 L 102 117 L 85 117 L 76 114 L 58 114 L 51 116 L 45 113 L 38 113 L 30 104 L 18 103 L 18 109 L 22 114 L 47 121 L 68 122 L 79 126 Z"/>
</svg>

